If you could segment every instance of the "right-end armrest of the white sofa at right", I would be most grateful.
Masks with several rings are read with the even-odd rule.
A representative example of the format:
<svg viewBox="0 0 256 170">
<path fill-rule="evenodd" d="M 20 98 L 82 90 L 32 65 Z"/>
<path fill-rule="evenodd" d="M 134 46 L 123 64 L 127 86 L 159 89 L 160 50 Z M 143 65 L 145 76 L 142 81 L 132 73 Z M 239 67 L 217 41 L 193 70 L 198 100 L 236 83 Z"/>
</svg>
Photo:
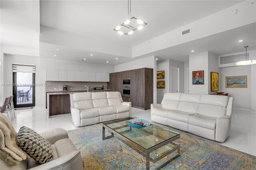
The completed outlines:
<svg viewBox="0 0 256 170">
<path fill-rule="evenodd" d="M 218 117 L 216 120 L 215 140 L 224 142 L 230 133 L 231 115 Z"/>
</svg>

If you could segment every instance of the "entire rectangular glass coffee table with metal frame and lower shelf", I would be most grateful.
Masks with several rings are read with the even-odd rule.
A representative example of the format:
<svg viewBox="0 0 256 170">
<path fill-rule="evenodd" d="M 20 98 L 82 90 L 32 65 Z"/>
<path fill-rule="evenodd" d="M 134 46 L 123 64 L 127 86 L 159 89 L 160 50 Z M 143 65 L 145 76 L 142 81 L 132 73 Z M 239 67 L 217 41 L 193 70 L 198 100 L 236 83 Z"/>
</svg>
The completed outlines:
<svg viewBox="0 0 256 170">
<path fill-rule="evenodd" d="M 164 166 L 170 160 L 180 156 L 180 145 L 173 142 L 180 138 L 179 133 L 172 131 L 169 127 L 160 127 L 151 122 L 148 127 L 133 128 L 125 123 L 130 119 L 134 118 L 128 117 L 102 123 L 102 140 L 115 136 L 133 148 L 146 158 L 146 170 L 150 169 L 150 161 L 155 163 L 167 156 L 167 160 L 160 164 Z M 106 136 L 105 128 L 111 132 L 111 135 Z"/>
</svg>

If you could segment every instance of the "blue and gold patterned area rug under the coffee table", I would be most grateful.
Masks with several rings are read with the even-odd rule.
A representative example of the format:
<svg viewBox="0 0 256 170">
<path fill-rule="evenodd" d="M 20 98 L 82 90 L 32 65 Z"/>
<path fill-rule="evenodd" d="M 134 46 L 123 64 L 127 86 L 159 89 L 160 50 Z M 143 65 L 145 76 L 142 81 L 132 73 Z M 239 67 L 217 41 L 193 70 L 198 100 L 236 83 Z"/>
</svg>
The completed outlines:
<svg viewBox="0 0 256 170">
<path fill-rule="evenodd" d="M 181 156 L 164 167 L 160 162 L 150 162 L 151 169 L 164 170 L 255 170 L 256 156 L 222 146 L 193 134 L 173 129 L 180 133 Z M 106 130 L 107 132 L 107 130 Z M 84 170 L 144 170 L 146 159 L 118 140 L 102 140 L 102 124 L 68 131 L 76 148 L 80 150 Z"/>
</svg>

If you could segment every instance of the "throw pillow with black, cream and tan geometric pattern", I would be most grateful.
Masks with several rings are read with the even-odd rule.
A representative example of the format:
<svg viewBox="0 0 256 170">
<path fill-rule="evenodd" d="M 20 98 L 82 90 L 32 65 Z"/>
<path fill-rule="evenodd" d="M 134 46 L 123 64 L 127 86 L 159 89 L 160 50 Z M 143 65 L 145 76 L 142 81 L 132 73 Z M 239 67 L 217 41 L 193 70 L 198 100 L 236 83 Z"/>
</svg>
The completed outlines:
<svg viewBox="0 0 256 170">
<path fill-rule="evenodd" d="M 44 164 L 53 159 L 53 151 L 50 142 L 28 127 L 21 127 L 17 140 L 18 146 L 27 154 L 39 162 Z"/>
</svg>

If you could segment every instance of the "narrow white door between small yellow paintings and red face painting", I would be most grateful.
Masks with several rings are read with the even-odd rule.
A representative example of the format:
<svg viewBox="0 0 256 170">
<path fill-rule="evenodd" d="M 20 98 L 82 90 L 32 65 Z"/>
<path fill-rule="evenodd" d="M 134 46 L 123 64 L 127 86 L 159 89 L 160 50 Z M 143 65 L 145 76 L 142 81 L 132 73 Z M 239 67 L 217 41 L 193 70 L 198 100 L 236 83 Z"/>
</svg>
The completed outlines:
<svg viewBox="0 0 256 170">
<path fill-rule="evenodd" d="M 171 92 L 180 93 L 180 68 L 171 66 Z"/>
</svg>

